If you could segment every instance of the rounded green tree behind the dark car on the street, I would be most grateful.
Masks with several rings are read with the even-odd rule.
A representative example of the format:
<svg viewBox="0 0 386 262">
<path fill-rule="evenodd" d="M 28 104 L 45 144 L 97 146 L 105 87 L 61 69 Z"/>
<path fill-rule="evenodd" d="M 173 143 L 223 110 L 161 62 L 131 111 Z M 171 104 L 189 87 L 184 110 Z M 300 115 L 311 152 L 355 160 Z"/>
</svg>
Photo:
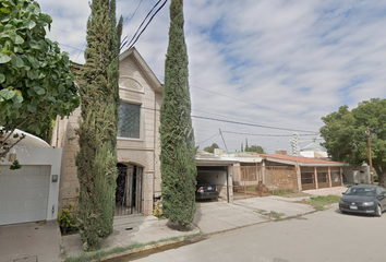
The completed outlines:
<svg viewBox="0 0 386 262">
<path fill-rule="evenodd" d="M 362 102 L 351 111 L 341 106 L 338 111 L 323 117 L 325 126 L 322 144 L 334 160 L 353 166 L 369 163 L 366 130 L 371 130 L 372 160 L 379 179 L 386 186 L 386 99 L 372 98 Z"/>
</svg>

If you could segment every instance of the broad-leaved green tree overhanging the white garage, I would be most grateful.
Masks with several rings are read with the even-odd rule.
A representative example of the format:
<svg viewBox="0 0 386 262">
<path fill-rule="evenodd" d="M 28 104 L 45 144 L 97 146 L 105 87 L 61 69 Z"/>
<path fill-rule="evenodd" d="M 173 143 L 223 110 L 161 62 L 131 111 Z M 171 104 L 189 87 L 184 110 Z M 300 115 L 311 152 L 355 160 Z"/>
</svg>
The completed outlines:
<svg viewBox="0 0 386 262">
<path fill-rule="evenodd" d="M 36 1 L 0 1 L 0 158 L 24 138 L 15 129 L 40 134 L 43 122 L 79 106 L 69 56 L 46 38 L 51 21 Z"/>
</svg>

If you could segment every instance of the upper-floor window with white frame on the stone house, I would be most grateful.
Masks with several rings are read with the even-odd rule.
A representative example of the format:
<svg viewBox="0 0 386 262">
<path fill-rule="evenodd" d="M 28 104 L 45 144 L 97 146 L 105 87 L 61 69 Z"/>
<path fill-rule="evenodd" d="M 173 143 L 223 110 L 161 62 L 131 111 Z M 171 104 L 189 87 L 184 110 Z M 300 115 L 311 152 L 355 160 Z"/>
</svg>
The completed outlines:
<svg viewBox="0 0 386 262">
<path fill-rule="evenodd" d="M 141 105 L 122 102 L 119 107 L 118 138 L 141 138 Z"/>
</svg>

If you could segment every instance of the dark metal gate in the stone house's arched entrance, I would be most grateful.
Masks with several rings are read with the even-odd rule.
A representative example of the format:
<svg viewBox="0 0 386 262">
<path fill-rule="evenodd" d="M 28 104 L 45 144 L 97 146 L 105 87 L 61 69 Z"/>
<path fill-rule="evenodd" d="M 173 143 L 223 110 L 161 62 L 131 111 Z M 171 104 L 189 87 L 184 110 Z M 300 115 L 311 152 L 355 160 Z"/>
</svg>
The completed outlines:
<svg viewBox="0 0 386 262">
<path fill-rule="evenodd" d="M 116 216 L 142 212 L 142 167 L 118 167 Z"/>
</svg>

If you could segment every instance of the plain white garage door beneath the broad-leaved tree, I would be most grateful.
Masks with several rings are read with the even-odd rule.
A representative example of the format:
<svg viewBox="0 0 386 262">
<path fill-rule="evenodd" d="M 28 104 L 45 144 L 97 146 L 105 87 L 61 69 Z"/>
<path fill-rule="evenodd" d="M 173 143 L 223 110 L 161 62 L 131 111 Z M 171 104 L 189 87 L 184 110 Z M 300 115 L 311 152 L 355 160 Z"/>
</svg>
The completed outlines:
<svg viewBox="0 0 386 262">
<path fill-rule="evenodd" d="M 50 166 L 0 166 L 0 225 L 45 221 Z"/>
</svg>

